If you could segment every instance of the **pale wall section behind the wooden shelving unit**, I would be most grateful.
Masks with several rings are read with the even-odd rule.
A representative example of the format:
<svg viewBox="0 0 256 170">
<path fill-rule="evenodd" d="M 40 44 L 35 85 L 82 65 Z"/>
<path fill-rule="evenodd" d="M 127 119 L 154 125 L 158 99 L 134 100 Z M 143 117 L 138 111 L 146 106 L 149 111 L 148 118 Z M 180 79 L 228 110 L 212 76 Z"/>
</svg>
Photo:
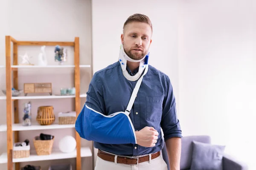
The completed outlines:
<svg viewBox="0 0 256 170">
<path fill-rule="evenodd" d="M 0 2 L 0 65 L 5 65 L 5 36 L 11 35 L 16 40 L 28 41 L 74 41 L 75 37 L 80 38 L 80 63 L 91 64 L 91 1 L 90 0 L 1 0 Z M 18 47 L 18 54 L 23 55 L 28 52 L 32 56 L 32 63 L 37 64 L 37 56 L 40 46 Z M 46 47 L 49 65 L 54 62 L 54 46 Z M 19 58 L 19 62 L 20 62 Z M 65 64 L 73 64 L 73 48 L 68 48 L 68 61 Z M 51 75 L 50 75 L 51 74 Z M 72 69 L 49 69 L 49 70 L 19 70 L 19 88 L 23 88 L 25 82 L 52 82 L 53 93 L 59 93 L 61 87 L 73 86 Z M 0 88 L 5 89 L 5 69 L 0 69 Z M 81 69 L 81 93 L 86 93 L 91 79 L 91 68 Z M 0 95 L 3 95 L 0 92 Z M 27 100 L 20 100 L 19 114 L 22 119 L 22 105 Z M 32 121 L 36 122 L 37 108 L 42 105 L 53 105 L 56 119 L 58 112 L 73 111 L 74 99 L 58 100 L 31 100 Z M 81 107 L 85 99 L 81 99 Z M 6 123 L 6 102 L 0 100 L 1 113 L 0 124 Z M 58 120 L 56 120 L 57 122 Z M 58 149 L 58 141 L 65 135 L 75 135 L 74 129 L 66 130 L 32 130 L 20 132 L 20 140 L 32 138 L 40 133 L 48 133 L 55 136 L 53 144 Z M 0 153 L 6 152 L 6 132 L 0 133 Z M 92 148 L 92 142 L 82 139 L 82 146 Z M 34 146 L 32 144 L 32 150 Z M 92 157 L 82 158 L 82 168 L 91 170 L 93 167 Z M 61 159 L 53 161 L 36 161 L 21 163 L 41 165 L 42 170 L 48 169 L 50 164 L 72 163 L 75 169 L 75 159 Z M 1 170 L 7 169 L 7 164 L 0 164 Z"/>
</svg>

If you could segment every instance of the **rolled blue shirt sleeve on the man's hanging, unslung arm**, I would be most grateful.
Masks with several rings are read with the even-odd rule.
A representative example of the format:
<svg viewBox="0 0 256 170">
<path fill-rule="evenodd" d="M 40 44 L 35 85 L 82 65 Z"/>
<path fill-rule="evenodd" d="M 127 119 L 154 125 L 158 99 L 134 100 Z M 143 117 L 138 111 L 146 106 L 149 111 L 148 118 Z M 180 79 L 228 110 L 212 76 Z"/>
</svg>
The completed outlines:
<svg viewBox="0 0 256 170">
<path fill-rule="evenodd" d="M 165 141 L 172 137 L 182 138 L 180 121 L 177 119 L 175 96 L 169 77 L 166 79 L 166 93 L 163 101 L 161 127 Z"/>
</svg>

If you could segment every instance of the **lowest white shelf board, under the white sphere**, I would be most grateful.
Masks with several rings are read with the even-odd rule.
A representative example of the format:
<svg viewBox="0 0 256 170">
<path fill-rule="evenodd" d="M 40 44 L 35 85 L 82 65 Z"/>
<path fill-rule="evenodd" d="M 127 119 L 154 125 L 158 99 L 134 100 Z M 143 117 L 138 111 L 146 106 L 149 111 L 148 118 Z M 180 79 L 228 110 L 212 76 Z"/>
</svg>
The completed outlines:
<svg viewBox="0 0 256 170">
<path fill-rule="evenodd" d="M 92 156 L 92 152 L 89 147 L 81 147 L 81 157 L 90 157 Z M 35 151 L 30 151 L 30 156 L 27 158 L 18 158 L 12 159 L 15 162 L 28 162 L 28 161 L 45 161 L 45 160 L 55 160 L 55 159 L 70 159 L 76 158 L 76 150 L 71 153 L 62 153 L 59 150 L 52 150 L 50 155 L 37 155 Z M 0 156 L 0 164 L 7 163 L 7 153 L 3 153 Z"/>
</svg>

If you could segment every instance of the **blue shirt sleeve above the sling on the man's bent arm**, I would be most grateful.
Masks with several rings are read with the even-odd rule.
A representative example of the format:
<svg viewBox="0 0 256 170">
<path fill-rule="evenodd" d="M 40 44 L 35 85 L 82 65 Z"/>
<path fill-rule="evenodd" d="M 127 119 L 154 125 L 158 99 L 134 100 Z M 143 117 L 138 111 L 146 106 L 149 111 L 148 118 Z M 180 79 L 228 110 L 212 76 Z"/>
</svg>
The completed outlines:
<svg viewBox="0 0 256 170">
<path fill-rule="evenodd" d="M 85 105 L 98 111 L 104 115 L 105 113 L 105 102 L 103 98 L 103 85 L 99 79 L 99 75 L 96 73 L 90 82 L 86 96 Z"/>
</svg>

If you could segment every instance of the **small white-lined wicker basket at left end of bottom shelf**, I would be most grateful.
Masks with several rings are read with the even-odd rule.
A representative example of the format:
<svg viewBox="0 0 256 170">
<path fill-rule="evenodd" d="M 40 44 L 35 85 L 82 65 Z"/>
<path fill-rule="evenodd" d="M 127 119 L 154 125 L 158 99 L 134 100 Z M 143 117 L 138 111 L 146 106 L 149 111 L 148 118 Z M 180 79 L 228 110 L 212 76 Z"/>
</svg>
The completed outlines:
<svg viewBox="0 0 256 170">
<path fill-rule="evenodd" d="M 17 146 L 18 143 L 13 144 L 13 158 L 26 158 L 30 156 L 30 145 Z"/>
</svg>

